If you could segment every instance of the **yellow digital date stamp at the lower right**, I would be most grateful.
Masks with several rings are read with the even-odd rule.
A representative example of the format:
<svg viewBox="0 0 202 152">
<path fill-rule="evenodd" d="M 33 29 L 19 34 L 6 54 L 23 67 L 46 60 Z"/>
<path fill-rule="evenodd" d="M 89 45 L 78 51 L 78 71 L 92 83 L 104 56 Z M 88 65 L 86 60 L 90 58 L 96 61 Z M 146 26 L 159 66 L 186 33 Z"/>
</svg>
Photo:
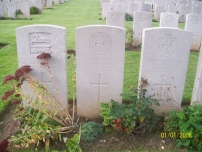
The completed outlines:
<svg viewBox="0 0 202 152">
<path fill-rule="evenodd" d="M 161 132 L 161 138 L 192 138 L 190 132 Z"/>
</svg>

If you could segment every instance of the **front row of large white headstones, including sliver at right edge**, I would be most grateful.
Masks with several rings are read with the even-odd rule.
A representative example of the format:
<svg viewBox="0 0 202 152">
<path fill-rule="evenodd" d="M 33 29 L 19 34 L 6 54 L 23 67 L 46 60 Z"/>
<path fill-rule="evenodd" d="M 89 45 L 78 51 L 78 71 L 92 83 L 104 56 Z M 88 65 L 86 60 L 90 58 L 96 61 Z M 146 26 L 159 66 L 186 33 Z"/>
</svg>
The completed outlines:
<svg viewBox="0 0 202 152">
<path fill-rule="evenodd" d="M 94 25 L 76 28 L 76 96 L 77 115 L 99 117 L 100 102 L 111 99 L 122 102 L 123 92 L 124 28 Z M 53 25 L 30 25 L 16 29 L 19 67 L 30 65 L 31 76 L 46 85 L 68 107 L 66 29 Z M 139 80 L 147 79 L 146 96 L 153 96 L 160 103 L 156 112 L 168 112 L 180 107 L 184 90 L 191 33 L 177 28 L 147 28 L 143 30 L 143 43 Z M 41 53 L 50 53 L 48 59 L 53 77 L 36 59 Z M 195 80 L 192 101 L 202 103 L 202 51 Z M 55 80 L 54 86 L 52 79 Z M 32 96 L 28 84 L 23 91 Z M 58 96 L 56 96 L 58 98 Z"/>
</svg>

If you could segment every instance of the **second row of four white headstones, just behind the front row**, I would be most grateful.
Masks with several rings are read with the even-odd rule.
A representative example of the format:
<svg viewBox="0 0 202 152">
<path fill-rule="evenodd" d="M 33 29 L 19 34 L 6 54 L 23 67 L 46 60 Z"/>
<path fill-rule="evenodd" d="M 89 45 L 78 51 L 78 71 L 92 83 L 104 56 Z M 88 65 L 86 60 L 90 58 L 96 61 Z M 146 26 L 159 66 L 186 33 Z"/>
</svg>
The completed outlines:
<svg viewBox="0 0 202 152">
<path fill-rule="evenodd" d="M 163 12 L 161 13 L 160 27 L 178 28 L 179 14 Z M 108 11 L 106 25 L 124 28 L 125 12 Z M 137 11 L 133 17 L 133 45 L 138 46 L 142 43 L 142 32 L 145 28 L 152 27 L 152 13 Z M 192 51 L 199 51 L 202 37 L 202 14 L 187 14 L 185 30 L 192 33 Z"/>
</svg>

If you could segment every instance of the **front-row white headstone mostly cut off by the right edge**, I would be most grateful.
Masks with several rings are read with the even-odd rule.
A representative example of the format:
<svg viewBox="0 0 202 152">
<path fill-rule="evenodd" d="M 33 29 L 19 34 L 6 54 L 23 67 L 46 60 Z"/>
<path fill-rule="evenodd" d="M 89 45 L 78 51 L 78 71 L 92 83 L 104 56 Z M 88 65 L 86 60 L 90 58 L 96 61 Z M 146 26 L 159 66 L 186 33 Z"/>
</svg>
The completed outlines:
<svg viewBox="0 0 202 152">
<path fill-rule="evenodd" d="M 199 54 L 198 66 L 192 92 L 191 103 L 198 102 L 202 104 L 202 47 Z"/>
</svg>

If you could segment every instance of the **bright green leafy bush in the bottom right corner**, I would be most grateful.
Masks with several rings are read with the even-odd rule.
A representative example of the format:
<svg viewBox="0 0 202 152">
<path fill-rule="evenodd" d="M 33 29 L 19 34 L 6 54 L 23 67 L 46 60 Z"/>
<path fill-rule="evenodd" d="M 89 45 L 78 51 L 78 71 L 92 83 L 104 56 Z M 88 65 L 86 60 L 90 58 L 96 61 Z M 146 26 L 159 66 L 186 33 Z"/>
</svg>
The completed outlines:
<svg viewBox="0 0 202 152">
<path fill-rule="evenodd" d="M 202 151 L 202 105 L 193 104 L 180 111 L 171 111 L 164 122 L 164 131 L 174 134 L 176 146 L 188 151 Z"/>
</svg>

